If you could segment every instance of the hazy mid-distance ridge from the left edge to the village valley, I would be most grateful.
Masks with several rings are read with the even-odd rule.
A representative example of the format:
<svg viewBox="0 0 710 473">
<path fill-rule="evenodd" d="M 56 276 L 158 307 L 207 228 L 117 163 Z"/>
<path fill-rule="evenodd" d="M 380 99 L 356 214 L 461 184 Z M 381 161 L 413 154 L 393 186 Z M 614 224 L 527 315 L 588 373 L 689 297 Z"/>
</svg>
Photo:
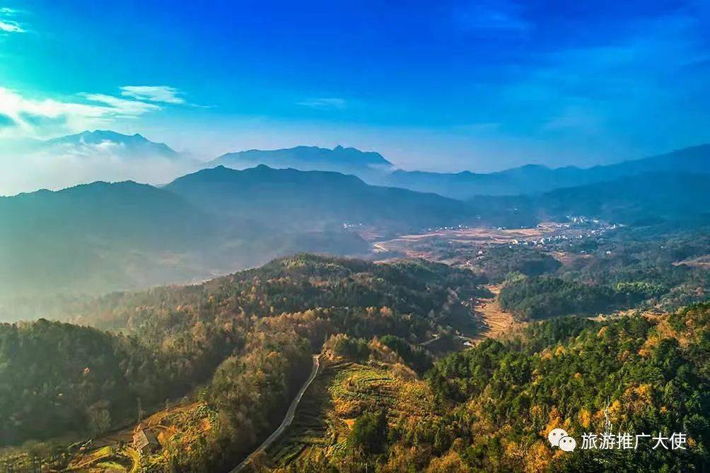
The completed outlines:
<svg viewBox="0 0 710 473">
<path fill-rule="evenodd" d="M 413 231 L 464 202 L 338 173 L 223 167 L 165 187 L 97 182 L 0 198 L 0 295 L 195 281 L 296 251 L 361 254 L 345 222 Z"/>
</svg>

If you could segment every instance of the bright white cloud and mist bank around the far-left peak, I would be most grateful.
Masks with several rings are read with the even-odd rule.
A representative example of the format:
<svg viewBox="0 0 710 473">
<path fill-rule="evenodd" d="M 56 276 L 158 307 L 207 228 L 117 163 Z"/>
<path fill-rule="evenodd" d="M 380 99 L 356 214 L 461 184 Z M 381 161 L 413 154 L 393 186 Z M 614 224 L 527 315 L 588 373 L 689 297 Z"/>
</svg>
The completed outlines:
<svg viewBox="0 0 710 473">
<path fill-rule="evenodd" d="M 130 148 L 111 139 L 82 138 L 78 143 L 41 146 L 35 141 L 113 128 L 119 121 L 139 119 L 168 106 L 88 92 L 38 99 L 0 87 L 0 195 L 94 180 L 164 183 L 193 170 L 189 160 L 173 160 L 151 148 Z"/>
</svg>

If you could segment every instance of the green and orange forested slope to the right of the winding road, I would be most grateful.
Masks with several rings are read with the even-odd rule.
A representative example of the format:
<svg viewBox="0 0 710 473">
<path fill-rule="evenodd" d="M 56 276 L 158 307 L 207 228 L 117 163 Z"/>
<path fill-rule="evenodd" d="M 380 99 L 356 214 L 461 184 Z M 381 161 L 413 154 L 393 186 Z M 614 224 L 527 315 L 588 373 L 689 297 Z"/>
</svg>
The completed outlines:
<svg viewBox="0 0 710 473">
<path fill-rule="evenodd" d="M 660 317 L 546 320 L 506 341 L 486 339 L 437 361 L 425 382 L 398 369 L 396 360 L 384 359 L 386 349 L 376 340 L 366 347 L 366 358 L 335 353 L 341 361 L 327 379 L 322 436 L 305 442 L 295 459 L 283 453 L 288 445 L 276 447 L 259 468 L 314 473 L 710 468 L 710 304 Z M 552 428 L 577 438 L 574 454 L 550 447 Z M 584 433 L 601 438 L 606 432 L 615 438 L 626 432 L 666 437 L 677 432 L 687 434 L 687 442 L 676 450 L 653 449 L 650 437 L 636 449 L 582 448 Z M 284 443 L 298 441 L 304 442 L 293 434 Z"/>
</svg>

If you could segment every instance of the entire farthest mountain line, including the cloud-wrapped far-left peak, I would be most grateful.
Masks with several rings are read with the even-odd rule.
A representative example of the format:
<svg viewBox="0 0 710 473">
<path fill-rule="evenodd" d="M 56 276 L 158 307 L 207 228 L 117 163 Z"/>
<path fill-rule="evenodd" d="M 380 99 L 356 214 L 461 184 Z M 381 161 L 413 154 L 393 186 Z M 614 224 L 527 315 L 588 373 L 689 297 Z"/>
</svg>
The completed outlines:
<svg viewBox="0 0 710 473">
<path fill-rule="evenodd" d="M 95 173 L 99 178 L 111 180 L 160 183 L 201 168 L 223 165 L 226 168 L 244 170 L 267 165 L 278 169 L 320 170 L 355 175 L 370 185 L 432 192 L 457 200 L 485 195 L 542 194 L 563 187 L 601 183 L 642 173 L 710 174 L 710 144 L 592 168 L 547 168 L 531 164 L 495 173 L 400 170 L 379 153 L 342 146 L 332 149 L 317 146 L 296 146 L 271 151 L 252 149 L 226 153 L 212 161 L 201 163 L 174 151 L 165 143 L 155 143 L 140 134 L 124 135 L 101 130 L 35 142 L 33 151 L 45 156 L 84 156 L 87 158 L 87 167 L 99 166 L 100 172 Z M 114 159 L 108 159 L 109 157 Z M 88 158 L 94 159 L 92 161 Z M 101 168 L 101 163 L 108 167 Z M 72 161 L 72 165 L 77 165 L 77 161 Z M 76 174 L 94 176 L 90 170 L 81 168 Z"/>
</svg>

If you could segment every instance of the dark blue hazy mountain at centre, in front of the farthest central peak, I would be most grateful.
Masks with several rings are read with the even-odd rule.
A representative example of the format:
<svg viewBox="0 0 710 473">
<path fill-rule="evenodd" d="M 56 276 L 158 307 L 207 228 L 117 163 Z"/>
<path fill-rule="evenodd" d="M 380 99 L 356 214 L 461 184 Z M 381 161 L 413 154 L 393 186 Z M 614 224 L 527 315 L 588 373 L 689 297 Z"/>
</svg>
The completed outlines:
<svg viewBox="0 0 710 473">
<path fill-rule="evenodd" d="M 322 171 L 246 170 L 218 166 L 164 187 L 204 210 L 292 231 L 342 227 L 344 222 L 419 229 L 466 220 L 457 200 L 367 185 L 351 175 Z"/>
</svg>

